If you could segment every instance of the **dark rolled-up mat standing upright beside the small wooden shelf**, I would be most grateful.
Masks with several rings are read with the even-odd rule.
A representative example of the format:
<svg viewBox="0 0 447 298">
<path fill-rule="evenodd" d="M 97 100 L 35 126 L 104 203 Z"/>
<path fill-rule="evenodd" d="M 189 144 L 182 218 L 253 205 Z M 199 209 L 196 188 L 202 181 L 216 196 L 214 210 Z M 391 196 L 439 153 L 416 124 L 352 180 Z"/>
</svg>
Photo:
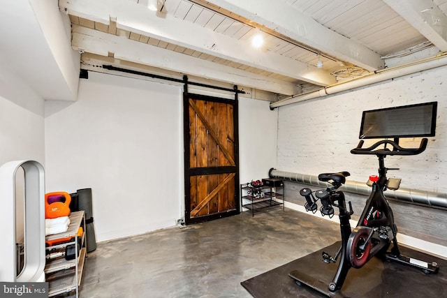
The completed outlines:
<svg viewBox="0 0 447 298">
<path fill-rule="evenodd" d="M 96 236 L 93 224 L 93 204 L 91 201 L 91 188 L 78 189 L 78 207 L 85 211 L 85 232 L 87 234 L 87 253 L 96 249 Z"/>
</svg>

